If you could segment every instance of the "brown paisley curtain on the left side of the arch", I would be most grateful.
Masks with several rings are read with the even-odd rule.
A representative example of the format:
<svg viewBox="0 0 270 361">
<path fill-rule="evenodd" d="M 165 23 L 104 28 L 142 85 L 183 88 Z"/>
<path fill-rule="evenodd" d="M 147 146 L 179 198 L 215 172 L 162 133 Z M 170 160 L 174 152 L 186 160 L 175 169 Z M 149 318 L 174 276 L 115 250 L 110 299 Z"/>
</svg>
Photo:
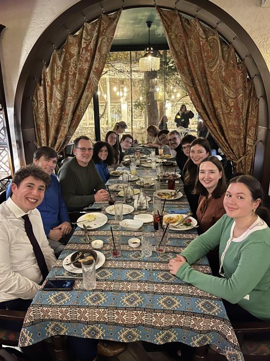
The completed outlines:
<svg viewBox="0 0 270 361">
<path fill-rule="evenodd" d="M 97 90 L 120 15 L 121 10 L 84 23 L 53 52 L 33 96 L 38 146 L 59 152 L 69 143 Z"/>
</svg>

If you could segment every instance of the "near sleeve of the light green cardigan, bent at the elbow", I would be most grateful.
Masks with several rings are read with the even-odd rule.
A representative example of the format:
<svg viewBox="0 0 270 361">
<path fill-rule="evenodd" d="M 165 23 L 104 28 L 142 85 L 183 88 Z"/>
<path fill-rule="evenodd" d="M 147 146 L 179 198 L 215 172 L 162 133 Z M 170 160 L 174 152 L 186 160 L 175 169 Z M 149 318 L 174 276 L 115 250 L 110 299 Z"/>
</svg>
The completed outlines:
<svg viewBox="0 0 270 361">
<path fill-rule="evenodd" d="M 236 304 L 256 287 L 269 268 L 269 251 L 270 247 L 265 243 L 254 242 L 243 247 L 238 266 L 228 279 L 195 271 L 188 263 L 178 269 L 176 276 L 201 290 Z"/>
</svg>

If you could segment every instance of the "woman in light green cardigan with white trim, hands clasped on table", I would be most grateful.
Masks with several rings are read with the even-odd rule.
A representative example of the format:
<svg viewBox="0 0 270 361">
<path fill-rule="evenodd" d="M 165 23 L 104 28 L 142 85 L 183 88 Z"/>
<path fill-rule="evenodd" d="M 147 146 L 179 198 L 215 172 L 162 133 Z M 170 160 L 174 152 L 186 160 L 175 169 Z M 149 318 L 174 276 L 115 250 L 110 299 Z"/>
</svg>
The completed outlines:
<svg viewBox="0 0 270 361">
<path fill-rule="evenodd" d="M 229 318 L 237 321 L 270 320 L 270 217 L 261 199 L 257 179 L 231 179 L 223 202 L 226 214 L 169 261 L 170 273 L 223 298 Z M 221 277 L 190 266 L 217 246 Z"/>
</svg>

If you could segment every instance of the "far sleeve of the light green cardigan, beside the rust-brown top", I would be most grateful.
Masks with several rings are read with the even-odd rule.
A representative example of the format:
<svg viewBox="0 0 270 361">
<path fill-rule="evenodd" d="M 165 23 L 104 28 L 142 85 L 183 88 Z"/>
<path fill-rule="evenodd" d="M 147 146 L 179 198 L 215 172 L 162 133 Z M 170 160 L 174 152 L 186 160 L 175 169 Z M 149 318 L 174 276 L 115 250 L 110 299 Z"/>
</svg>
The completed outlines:
<svg viewBox="0 0 270 361">
<path fill-rule="evenodd" d="M 185 251 L 181 253 L 190 265 L 219 245 L 220 229 L 223 222 L 224 217 L 221 217 L 208 231 L 193 239 Z"/>
</svg>

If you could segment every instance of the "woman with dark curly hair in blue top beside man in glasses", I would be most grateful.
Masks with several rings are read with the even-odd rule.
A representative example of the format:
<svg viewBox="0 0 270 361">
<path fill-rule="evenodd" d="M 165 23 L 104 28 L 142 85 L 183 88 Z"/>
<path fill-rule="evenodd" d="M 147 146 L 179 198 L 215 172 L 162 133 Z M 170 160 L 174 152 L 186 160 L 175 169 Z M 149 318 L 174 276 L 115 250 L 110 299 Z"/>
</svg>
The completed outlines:
<svg viewBox="0 0 270 361">
<path fill-rule="evenodd" d="M 96 142 L 92 159 L 103 182 L 106 183 L 110 177 L 107 166 L 114 163 L 114 149 L 106 142 Z"/>
</svg>

